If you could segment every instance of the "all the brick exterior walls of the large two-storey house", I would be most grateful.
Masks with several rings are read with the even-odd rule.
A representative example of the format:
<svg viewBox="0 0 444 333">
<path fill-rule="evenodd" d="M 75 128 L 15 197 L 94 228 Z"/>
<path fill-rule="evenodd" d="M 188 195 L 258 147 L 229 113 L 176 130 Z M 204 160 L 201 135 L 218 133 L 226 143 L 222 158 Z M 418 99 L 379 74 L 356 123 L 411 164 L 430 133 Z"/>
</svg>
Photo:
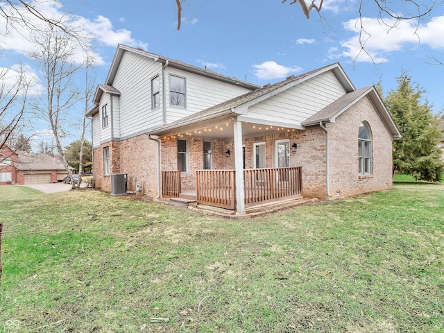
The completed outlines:
<svg viewBox="0 0 444 333">
<path fill-rule="evenodd" d="M 372 131 L 373 172 L 359 176 L 358 129 L 366 121 Z M 290 165 L 302 167 L 302 196 L 306 198 L 342 199 L 350 196 L 391 189 L 392 182 L 392 137 L 367 98 L 328 123 L 330 140 L 330 198 L 326 188 L 326 133 L 314 126 L 307 130 L 291 130 L 275 135 L 262 135 L 243 140 L 246 151 L 246 169 L 253 166 L 253 144 L 265 142 L 266 167 L 275 167 L 276 140 L 289 139 Z M 187 139 L 189 173 L 181 176 L 182 189 L 196 188 L 196 170 L 203 169 L 203 141 L 199 137 Z M 178 169 L 178 137 L 161 139 L 162 171 Z M 296 152 L 291 151 L 298 144 Z M 111 191 L 110 176 L 103 176 L 103 148 L 110 147 L 110 173 L 128 174 L 128 191 L 135 190 L 135 182 L 142 184 L 143 194 L 150 197 L 157 193 L 157 142 L 147 135 L 139 135 L 121 142 L 108 142 L 94 149 L 94 179 L 96 187 Z M 230 150 L 230 157 L 225 152 Z M 234 169 L 233 141 L 212 140 L 213 169 Z M 137 177 L 137 181 L 135 181 Z"/>
</svg>

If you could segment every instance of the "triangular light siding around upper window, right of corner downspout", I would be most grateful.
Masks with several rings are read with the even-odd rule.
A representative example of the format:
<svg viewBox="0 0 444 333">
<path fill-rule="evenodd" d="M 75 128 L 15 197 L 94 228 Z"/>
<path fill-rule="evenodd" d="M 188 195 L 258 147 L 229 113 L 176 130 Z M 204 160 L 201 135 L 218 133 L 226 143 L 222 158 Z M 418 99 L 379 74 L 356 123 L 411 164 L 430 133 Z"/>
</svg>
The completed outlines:
<svg viewBox="0 0 444 333">
<path fill-rule="evenodd" d="M 177 75 L 185 78 L 186 102 L 185 109 L 169 105 L 169 76 Z M 171 123 L 196 112 L 205 110 L 216 104 L 250 92 L 249 89 L 237 87 L 221 81 L 212 80 L 186 71 L 168 68 L 165 73 L 165 92 L 167 97 L 167 123 Z"/>
</svg>

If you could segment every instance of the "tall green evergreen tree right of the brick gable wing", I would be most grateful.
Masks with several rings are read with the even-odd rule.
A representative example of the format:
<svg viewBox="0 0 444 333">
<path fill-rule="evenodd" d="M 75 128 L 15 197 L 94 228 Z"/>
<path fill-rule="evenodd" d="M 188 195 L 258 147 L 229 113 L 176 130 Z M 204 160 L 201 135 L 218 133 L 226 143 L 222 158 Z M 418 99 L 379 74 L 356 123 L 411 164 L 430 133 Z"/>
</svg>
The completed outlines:
<svg viewBox="0 0 444 333">
<path fill-rule="evenodd" d="M 432 105 L 427 100 L 422 103 L 424 93 L 404 71 L 398 78 L 398 89 L 388 92 L 384 99 L 402 134 L 393 142 L 393 172 L 411 174 L 416 180 L 438 181 L 443 172 L 438 146 L 442 130 Z"/>
</svg>

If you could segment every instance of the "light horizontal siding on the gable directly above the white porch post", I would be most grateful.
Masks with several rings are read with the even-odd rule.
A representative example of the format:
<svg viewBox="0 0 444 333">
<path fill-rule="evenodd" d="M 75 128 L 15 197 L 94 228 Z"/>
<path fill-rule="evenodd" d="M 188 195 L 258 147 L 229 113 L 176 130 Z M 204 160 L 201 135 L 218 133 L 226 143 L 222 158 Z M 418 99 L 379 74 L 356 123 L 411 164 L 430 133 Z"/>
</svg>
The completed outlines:
<svg viewBox="0 0 444 333">
<path fill-rule="evenodd" d="M 300 125 L 345 93 L 334 74 L 328 71 L 250 106 L 244 118 Z"/>
</svg>

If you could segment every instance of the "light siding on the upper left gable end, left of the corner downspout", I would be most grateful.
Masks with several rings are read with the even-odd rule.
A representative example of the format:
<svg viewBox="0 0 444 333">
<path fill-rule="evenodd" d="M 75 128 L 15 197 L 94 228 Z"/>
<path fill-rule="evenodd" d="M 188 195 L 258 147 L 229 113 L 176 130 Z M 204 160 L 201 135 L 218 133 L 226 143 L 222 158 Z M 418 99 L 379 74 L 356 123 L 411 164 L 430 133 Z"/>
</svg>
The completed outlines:
<svg viewBox="0 0 444 333">
<path fill-rule="evenodd" d="M 151 110 L 151 79 L 162 78 L 162 63 L 125 52 L 112 83 L 120 95 L 120 137 L 162 124 L 162 108 Z M 114 134 L 114 137 L 115 134 Z"/>
</svg>

